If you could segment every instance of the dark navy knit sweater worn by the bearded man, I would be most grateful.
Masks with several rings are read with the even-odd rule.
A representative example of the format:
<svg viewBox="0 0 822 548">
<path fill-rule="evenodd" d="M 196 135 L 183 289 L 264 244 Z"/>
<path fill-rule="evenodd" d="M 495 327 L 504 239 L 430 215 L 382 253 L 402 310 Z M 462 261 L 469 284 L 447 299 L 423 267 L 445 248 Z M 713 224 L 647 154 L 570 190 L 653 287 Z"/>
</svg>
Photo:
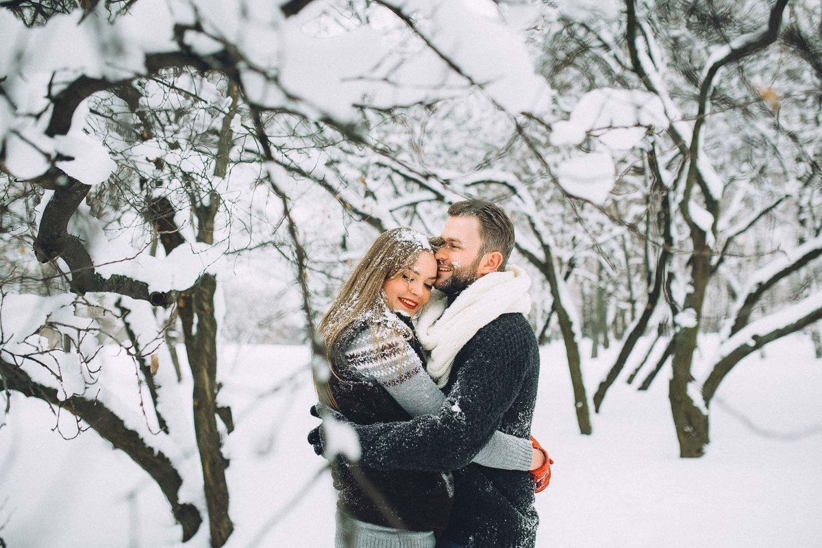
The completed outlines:
<svg viewBox="0 0 822 548">
<path fill-rule="evenodd" d="M 521 314 L 479 329 L 457 354 L 439 414 L 354 425 L 363 466 L 396 471 L 454 470 L 446 538 L 466 548 L 533 548 L 538 515 L 528 472 L 471 463 L 495 429 L 530 435 L 537 395 L 536 338 Z"/>
</svg>

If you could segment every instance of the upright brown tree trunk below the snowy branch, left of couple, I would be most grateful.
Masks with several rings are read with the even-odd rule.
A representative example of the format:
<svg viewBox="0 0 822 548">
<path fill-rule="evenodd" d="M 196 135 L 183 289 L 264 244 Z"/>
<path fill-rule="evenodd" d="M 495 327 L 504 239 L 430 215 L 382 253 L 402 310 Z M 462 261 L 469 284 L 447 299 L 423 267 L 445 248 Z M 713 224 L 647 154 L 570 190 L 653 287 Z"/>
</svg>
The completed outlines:
<svg viewBox="0 0 822 548">
<path fill-rule="evenodd" d="M 234 528 L 229 518 L 229 486 L 225 482 L 228 461 L 220 451 L 221 440 L 217 429 L 216 288 L 215 277 L 203 274 L 192 288 L 181 293 L 178 303 L 188 364 L 194 381 L 194 428 L 205 481 L 211 546 L 215 548 L 228 541 Z"/>
</svg>

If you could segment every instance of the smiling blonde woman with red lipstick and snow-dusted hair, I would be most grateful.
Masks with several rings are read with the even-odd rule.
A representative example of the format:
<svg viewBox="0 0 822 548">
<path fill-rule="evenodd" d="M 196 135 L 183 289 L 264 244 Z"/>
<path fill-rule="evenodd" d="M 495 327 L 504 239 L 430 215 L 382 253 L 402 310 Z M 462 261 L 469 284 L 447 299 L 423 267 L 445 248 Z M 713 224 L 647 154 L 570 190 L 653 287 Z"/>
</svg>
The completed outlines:
<svg viewBox="0 0 822 548">
<path fill-rule="evenodd" d="M 431 297 L 434 250 L 409 228 L 382 233 L 322 319 L 331 375 L 326 403 L 360 424 L 438 413 L 445 396 L 427 375 L 410 320 Z M 528 470 L 532 444 L 496 432 L 474 458 Z M 336 464 L 338 548 L 432 548 L 448 523 L 450 474 Z"/>
</svg>

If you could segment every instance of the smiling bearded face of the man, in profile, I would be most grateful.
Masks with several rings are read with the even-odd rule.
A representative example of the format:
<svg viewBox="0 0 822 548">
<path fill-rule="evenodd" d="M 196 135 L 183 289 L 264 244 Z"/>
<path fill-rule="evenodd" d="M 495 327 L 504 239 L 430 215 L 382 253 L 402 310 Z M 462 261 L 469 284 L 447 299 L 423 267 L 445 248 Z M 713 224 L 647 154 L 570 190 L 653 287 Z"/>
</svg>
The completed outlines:
<svg viewBox="0 0 822 548">
<path fill-rule="evenodd" d="M 455 295 L 479 278 L 479 255 L 483 238 L 476 217 L 449 217 L 442 228 L 443 246 L 436 251 L 434 287 L 446 295 Z"/>
</svg>

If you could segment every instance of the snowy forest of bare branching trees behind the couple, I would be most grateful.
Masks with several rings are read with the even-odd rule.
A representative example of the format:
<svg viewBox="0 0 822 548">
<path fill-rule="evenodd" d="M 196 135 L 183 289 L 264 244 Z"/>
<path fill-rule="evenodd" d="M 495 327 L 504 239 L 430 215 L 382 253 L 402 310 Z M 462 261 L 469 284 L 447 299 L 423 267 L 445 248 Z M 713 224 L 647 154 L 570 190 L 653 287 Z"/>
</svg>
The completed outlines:
<svg viewBox="0 0 822 548">
<path fill-rule="evenodd" d="M 44 402 L 27 427 L 127 455 L 183 541 L 235 528 L 219 349 L 320 371 L 365 247 L 465 197 L 515 221 L 579 435 L 619 380 L 704 458 L 732 371 L 822 358 L 818 2 L 0 8 L 0 434 Z"/>
</svg>

